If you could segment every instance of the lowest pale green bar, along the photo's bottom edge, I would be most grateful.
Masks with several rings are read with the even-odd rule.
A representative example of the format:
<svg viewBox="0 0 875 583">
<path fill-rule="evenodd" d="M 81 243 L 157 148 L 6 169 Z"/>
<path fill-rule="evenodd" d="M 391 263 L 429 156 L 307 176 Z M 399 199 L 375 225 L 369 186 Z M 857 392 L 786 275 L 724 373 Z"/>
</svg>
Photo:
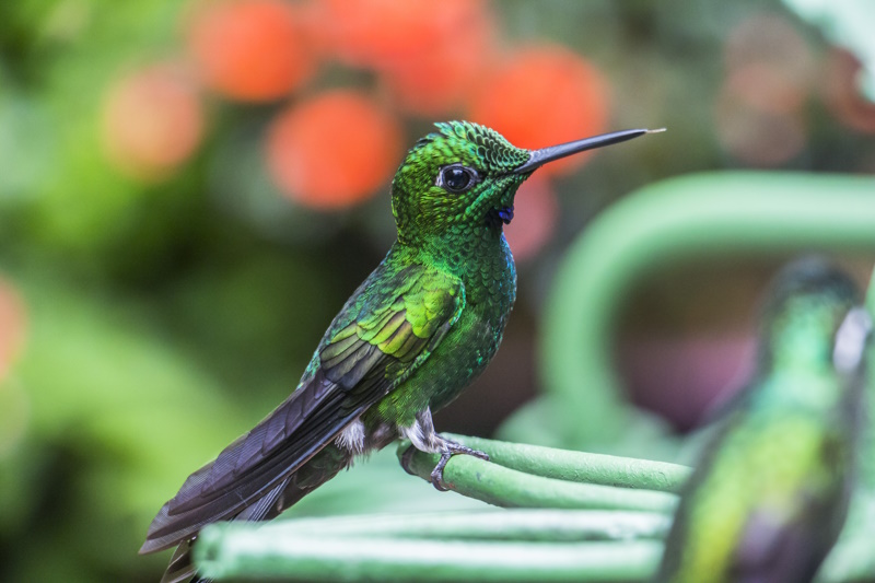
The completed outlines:
<svg viewBox="0 0 875 583">
<path fill-rule="evenodd" d="M 202 574 L 261 581 L 644 581 L 657 540 L 540 543 L 259 536 L 205 528 L 195 546 Z"/>
</svg>

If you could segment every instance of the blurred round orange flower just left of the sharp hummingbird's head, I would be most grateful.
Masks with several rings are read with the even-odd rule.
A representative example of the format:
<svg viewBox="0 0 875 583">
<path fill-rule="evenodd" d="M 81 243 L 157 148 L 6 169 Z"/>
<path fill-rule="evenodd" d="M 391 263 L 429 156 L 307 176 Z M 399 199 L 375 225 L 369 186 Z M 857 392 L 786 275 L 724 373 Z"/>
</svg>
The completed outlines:
<svg viewBox="0 0 875 583">
<path fill-rule="evenodd" d="M 346 207 L 392 178 L 400 133 L 395 119 L 364 95 L 332 91 L 273 120 L 268 163 L 279 188 L 302 205 Z"/>
</svg>

